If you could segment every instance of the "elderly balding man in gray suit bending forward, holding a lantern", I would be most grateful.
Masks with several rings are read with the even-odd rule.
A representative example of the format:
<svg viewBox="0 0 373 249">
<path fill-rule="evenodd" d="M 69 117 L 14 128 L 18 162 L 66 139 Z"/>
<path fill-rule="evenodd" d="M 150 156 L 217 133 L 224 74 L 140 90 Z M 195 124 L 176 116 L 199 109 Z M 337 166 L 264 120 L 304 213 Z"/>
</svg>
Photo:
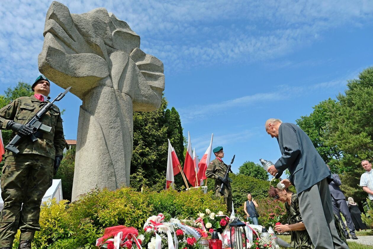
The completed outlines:
<svg viewBox="0 0 373 249">
<path fill-rule="evenodd" d="M 278 161 L 269 166 L 268 172 L 275 176 L 289 170 L 289 179 L 281 182 L 286 187 L 293 184 L 297 190 L 302 220 L 315 248 L 347 249 L 334 224 L 329 191 L 332 173 L 311 139 L 297 125 L 282 123 L 280 119 L 268 119 L 266 131 L 277 138 L 282 153 Z"/>
</svg>

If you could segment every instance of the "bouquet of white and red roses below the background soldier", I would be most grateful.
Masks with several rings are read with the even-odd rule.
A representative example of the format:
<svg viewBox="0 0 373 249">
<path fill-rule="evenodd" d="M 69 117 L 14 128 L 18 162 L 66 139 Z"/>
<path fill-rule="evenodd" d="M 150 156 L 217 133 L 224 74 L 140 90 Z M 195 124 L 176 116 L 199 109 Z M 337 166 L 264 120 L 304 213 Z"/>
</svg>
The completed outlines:
<svg viewBox="0 0 373 249">
<path fill-rule="evenodd" d="M 219 211 L 217 214 L 206 209 L 206 215 L 204 213 L 199 214 L 199 218 L 195 221 L 196 223 L 200 222 L 202 224 L 202 229 L 212 233 L 216 230 L 219 233 L 222 233 L 225 227 L 228 225 L 229 217 L 224 215 L 222 211 Z"/>
</svg>

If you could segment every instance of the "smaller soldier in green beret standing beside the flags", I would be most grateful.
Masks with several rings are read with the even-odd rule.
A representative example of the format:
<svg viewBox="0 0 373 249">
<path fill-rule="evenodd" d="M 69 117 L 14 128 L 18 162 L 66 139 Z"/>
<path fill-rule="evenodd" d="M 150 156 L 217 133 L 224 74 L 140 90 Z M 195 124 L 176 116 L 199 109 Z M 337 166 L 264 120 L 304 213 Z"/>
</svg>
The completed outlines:
<svg viewBox="0 0 373 249">
<path fill-rule="evenodd" d="M 225 173 L 228 165 L 226 165 L 222 158 L 224 157 L 223 147 L 219 146 L 213 149 L 216 158 L 210 162 L 206 170 L 206 176 L 215 179 L 215 194 L 217 197 L 224 196 L 225 204 L 227 205 L 228 213 L 232 212 L 232 189 L 229 181 L 224 181 Z M 223 195 L 220 194 L 220 187 L 222 183 L 225 184 Z"/>
</svg>

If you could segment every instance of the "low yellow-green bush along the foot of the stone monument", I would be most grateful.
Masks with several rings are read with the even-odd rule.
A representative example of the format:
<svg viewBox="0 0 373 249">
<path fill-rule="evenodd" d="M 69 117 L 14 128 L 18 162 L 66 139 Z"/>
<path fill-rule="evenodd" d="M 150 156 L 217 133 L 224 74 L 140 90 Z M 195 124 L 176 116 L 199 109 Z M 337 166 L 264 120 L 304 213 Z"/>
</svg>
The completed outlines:
<svg viewBox="0 0 373 249">
<path fill-rule="evenodd" d="M 141 193 L 131 188 L 96 189 L 73 203 L 62 200 L 57 204 L 52 200 L 50 205 L 42 208 L 41 230 L 35 233 L 33 249 L 94 248 L 96 239 L 102 236 L 106 227 L 125 225 L 141 230 L 151 215 L 162 212 L 168 218 L 197 218 L 206 208 L 217 213 L 224 212 L 226 207 L 211 191 L 203 194 L 200 189 L 163 190 L 160 193 L 150 190 Z"/>
</svg>

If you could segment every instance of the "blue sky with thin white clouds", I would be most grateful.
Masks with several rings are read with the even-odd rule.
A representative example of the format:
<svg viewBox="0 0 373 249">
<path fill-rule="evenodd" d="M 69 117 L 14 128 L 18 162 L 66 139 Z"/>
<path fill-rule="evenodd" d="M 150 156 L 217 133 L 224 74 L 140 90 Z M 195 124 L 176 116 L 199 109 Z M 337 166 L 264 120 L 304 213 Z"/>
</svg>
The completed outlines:
<svg viewBox="0 0 373 249">
<path fill-rule="evenodd" d="M 61 1 L 71 13 L 105 7 L 164 63 L 165 97 L 181 115 L 184 136 L 203 155 L 223 146 L 233 171 L 259 158 L 275 162 L 277 141 L 264 122 L 295 122 L 345 90 L 373 66 L 373 1 Z M 51 1 L 0 1 L 0 93 L 39 75 Z M 62 88 L 52 84 L 51 96 Z M 58 103 L 66 139 L 75 139 L 81 100 Z"/>
</svg>

